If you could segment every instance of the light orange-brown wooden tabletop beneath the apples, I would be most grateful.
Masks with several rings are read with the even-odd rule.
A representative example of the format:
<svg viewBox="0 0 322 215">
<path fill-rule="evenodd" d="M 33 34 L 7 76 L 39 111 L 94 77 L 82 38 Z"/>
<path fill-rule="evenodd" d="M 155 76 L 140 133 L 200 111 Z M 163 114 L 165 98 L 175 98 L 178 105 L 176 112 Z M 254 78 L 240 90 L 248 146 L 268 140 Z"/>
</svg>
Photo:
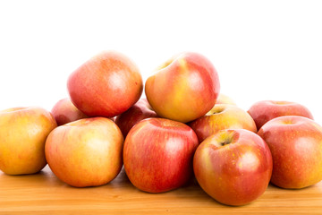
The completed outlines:
<svg viewBox="0 0 322 215">
<path fill-rule="evenodd" d="M 0 173 L 0 185 L 0 214 L 322 214 L 322 183 L 301 190 L 269 185 L 242 207 L 216 202 L 195 181 L 167 193 L 140 192 L 123 170 L 99 187 L 66 185 L 48 167 L 29 176 Z"/>
</svg>

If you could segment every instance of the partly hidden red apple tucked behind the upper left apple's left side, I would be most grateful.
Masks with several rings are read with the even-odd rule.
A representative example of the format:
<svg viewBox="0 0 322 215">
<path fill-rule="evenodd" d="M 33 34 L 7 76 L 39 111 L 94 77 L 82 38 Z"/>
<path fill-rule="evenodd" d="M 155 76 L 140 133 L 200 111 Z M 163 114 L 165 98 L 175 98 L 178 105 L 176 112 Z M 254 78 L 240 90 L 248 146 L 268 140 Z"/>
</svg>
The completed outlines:
<svg viewBox="0 0 322 215">
<path fill-rule="evenodd" d="M 88 117 L 75 107 L 71 99 L 68 98 L 59 100 L 52 108 L 51 113 L 58 126 Z"/>
</svg>

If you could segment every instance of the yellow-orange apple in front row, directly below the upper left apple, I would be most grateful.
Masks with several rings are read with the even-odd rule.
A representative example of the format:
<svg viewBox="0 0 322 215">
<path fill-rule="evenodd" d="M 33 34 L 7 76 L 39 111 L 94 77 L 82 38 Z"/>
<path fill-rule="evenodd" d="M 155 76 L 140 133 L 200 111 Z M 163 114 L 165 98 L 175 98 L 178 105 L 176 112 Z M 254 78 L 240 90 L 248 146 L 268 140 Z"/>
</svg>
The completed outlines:
<svg viewBox="0 0 322 215">
<path fill-rule="evenodd" d="M 68 185 L 105 185 L 119 174 L 123 135 L 105 117 L 84 118 L 55 128 L 47 138 L 46 158 L 55 176 Z"/>
</svg>

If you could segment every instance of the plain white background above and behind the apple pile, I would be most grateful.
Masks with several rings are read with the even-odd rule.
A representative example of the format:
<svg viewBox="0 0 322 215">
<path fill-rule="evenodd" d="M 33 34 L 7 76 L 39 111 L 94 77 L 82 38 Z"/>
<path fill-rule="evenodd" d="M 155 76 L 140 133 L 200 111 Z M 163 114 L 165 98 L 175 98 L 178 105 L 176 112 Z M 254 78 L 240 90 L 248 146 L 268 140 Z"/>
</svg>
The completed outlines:
<svg viewBox="0 0 322 215">
<path fill-rule="evenodd" d="M 1 1 L 0 109 L 50 110 L 69 74 L 110 49 L 144 81 L 174 54 L 199 52 L 243 109 L 296 101 L 322 124 L 319 1 Z"/>
</svg>

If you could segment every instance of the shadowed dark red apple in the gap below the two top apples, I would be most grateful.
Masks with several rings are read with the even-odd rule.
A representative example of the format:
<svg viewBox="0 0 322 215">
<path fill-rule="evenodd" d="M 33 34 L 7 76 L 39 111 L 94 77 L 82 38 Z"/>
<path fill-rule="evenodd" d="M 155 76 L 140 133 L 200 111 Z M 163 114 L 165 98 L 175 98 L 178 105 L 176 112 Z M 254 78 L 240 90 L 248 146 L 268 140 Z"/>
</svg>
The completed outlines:
<svg viewBox="0 0 322 215">
<path fill-rule="evenodd" d="M 157 114 L 148 104 L 148 100 L 146 98 L 141 98 L 123 114 L 116 116 L 115 123 L 121 129 L 123 136 L 126 137 L 131 127 L 141 120 L 150 117 L 157 117 Z"/>
</svg>

